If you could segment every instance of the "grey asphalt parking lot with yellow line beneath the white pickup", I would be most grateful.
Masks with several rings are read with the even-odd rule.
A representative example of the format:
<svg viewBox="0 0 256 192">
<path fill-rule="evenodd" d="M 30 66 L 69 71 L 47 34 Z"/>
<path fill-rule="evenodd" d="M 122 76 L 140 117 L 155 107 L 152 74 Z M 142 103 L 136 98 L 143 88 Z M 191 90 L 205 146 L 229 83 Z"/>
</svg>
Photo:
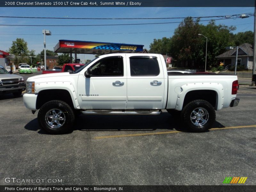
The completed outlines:
<svg viewBox="0 0 256 192">
<path fill-rule="evenodd" d="M 31 75 L 22 75 L 28 77 Z M 192 133 L 158 116 L 81 115 L 74 131 L 40 130 L 22 97 L 0 96 L 0 185 L 222 185 L 225 177 L 256 184 L 256 87 L 241 86 L 235 108 L 216 112 L 209 132 Z M 41 179 L 6 183 L 4 178 Z"/>
</svg>

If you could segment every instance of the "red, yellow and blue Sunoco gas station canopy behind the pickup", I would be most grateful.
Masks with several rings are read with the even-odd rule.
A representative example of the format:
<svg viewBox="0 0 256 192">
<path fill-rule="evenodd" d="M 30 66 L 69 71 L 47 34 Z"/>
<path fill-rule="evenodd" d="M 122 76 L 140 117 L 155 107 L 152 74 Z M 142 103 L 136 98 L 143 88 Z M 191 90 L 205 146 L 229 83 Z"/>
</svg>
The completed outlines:
<svg viewBox="0 0 256 192">
<path fill-rule="evenodd" d="M 132 53 L 143 51 L 143 46 L 144 45 L 135 44 L 59 40 L 58 44 L 54 47 L 54 52 L 76 54 Z"/>
</svg>

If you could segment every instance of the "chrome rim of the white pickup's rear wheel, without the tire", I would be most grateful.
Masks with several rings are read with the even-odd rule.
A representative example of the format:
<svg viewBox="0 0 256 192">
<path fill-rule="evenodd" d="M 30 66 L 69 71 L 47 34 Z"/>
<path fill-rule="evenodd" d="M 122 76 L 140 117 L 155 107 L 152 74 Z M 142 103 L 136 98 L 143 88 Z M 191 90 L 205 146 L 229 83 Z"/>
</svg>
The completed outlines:
<svg viewBox="0 0 256 192">
<path fill-rule="evenodd" d="M 196 126 L 203 126 L 209 120 L 209 113 L 205 108 L 195 108 L 190 114 L 190 120 Z"/>
</svg>

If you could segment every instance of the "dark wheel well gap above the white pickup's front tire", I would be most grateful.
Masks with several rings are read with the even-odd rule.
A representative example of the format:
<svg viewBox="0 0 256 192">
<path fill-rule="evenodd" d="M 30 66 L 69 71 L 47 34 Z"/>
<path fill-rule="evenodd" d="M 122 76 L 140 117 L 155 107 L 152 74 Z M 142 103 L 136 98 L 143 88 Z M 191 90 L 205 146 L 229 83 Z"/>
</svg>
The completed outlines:
<svg viewBox="0 0 256 192">
<path fill-rule="evenodd" d="M 67 90 L 64 89 L 48 89 L 43 90 L 38 93 L 37 99 L 36 99 L 36 109 L 41 108 L 44 103 L 51 101 L 51 100 L 61 100 L 66 103 L 71 108 L 73 107 L 73 102 L 71 99 L 71 96 Z"/>
</svg>

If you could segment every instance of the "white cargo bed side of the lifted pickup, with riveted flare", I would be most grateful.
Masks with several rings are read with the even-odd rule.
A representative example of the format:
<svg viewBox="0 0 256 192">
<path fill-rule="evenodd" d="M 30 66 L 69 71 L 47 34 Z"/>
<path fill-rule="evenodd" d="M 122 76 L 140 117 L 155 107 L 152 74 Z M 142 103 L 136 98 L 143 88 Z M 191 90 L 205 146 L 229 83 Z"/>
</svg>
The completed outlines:
<svg viewBox="0 0 256 192">
<path fill-rule="evenodd" d="M 235 75 L 225 74 L 171 74 L 168 75 L 168 96 L 166 108 L 181 110 L 185 95 L 192 90 L 212 90 L 216 93 L 216 110 L 229 107 L 232 99 L 232 83 Z M 221 102 L 219 102 L 221 101 Z"/>
</svg>

